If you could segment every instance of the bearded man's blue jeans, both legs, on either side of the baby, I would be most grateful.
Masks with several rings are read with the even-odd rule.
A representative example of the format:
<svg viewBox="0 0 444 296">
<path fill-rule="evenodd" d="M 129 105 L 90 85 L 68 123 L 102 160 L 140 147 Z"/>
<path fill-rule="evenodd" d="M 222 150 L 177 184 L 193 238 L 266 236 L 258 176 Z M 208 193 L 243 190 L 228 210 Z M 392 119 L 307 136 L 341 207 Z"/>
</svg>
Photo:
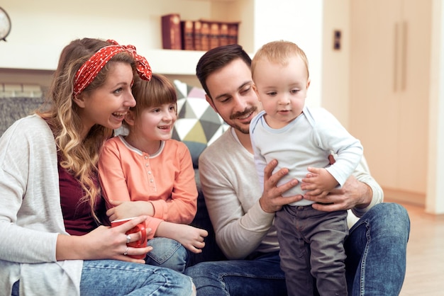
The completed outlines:
<svg viewBox="0 0 444 296">
<path fill-rule="evenodd" d="M 399 295 L 406 273 L 410 220 L 401 205 L 381 203 L 363 215 L 345 240 L 349 295 Z M 252 260 L 202 262 L 185 270 L 197 295 L 287 295 L 277 252 Z"/>
</svg>

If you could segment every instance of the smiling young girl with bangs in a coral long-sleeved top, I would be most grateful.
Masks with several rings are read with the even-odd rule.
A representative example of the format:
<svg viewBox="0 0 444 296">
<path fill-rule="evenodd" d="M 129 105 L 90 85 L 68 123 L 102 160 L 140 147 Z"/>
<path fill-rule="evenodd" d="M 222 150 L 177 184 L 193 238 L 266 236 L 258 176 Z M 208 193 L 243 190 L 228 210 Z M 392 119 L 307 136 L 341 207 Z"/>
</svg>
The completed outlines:
<svg viewBox="0 0 444 296">
<path fill-rule="evenodd" d="M 183 272 L 185 248 L 200 253 L 208 233 L 187 225 L 196 215 L 197 189 L 187 146 L 171 139 L 176 91 L 165 76 L 153 74 L 149 82 L 135 79 L 133 96 L 137 104 L 125 116 L 128 135 L 108 140 L 99 159 L 107 215 L 111 221 L 150 216 L 147 263 Z"/>
</svg>

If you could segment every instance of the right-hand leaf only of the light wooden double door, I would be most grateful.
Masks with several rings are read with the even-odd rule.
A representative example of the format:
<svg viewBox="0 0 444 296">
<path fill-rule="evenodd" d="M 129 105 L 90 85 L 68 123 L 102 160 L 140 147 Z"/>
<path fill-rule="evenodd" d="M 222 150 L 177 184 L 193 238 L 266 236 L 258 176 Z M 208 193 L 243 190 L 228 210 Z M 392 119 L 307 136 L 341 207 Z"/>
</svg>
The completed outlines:
<svg viewBox="0 0 444 296">
<path fill-rule="evenodd" d="M 405 56 L 399 101 L 399 187 L 426 193 L 431 1 L 402 1 Z"/>
</svg>

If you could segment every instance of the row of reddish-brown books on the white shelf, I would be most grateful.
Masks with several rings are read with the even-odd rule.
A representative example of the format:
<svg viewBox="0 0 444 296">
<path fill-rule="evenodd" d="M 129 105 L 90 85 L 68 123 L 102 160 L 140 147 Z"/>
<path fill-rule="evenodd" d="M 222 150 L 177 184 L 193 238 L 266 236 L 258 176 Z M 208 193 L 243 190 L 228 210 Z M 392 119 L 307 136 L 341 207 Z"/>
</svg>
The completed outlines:
<svg viewBox="0 0 444 296">
<path fill-rule="evenodd" d="M 178 13 L 162 16 L 162 47 L 169 50 L 211 50 L 238 43 L 238 22 L 182 21 Z"/>
</svg>

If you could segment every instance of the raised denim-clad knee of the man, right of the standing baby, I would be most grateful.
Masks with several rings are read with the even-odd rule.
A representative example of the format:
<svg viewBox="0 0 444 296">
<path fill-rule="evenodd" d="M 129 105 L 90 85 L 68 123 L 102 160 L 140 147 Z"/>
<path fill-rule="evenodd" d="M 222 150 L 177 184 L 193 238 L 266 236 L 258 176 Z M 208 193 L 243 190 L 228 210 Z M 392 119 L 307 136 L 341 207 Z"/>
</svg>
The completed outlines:
<svg viewBox="0 0 444 296">
<path fill-rule="evenodd" d="M 349 295 L 399 295 L 406 275 L 410 219 L 396 203 L 374 205 L 345 241 Z"/>
</svg>

